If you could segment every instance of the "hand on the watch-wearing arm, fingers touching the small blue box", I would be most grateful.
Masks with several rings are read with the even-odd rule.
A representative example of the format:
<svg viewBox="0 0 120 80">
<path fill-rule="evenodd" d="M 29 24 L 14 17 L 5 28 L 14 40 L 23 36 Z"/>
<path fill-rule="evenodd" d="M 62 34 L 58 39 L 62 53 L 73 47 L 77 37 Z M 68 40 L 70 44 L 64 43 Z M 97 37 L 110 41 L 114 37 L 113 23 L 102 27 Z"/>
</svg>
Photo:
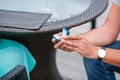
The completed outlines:
<svg viewBox="0 0 120 80">
<path fill-rule="evenodd" d="M 87 39 L 81 35 L 70 35 L 61 38 L 61 42 L 56 44 L 64 46 L 65 49 L 76 51 L 84 57 L 97 59 L 97 51 L 99 47 L 92 45 Z"/>
</svg>

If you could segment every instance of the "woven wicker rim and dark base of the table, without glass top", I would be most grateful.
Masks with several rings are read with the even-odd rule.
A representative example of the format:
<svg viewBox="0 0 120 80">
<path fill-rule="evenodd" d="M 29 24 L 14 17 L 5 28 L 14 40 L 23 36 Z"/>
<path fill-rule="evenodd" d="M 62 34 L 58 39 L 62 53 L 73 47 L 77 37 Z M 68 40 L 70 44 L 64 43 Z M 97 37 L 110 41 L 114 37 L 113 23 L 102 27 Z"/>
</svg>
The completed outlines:
<svg viewBox="0 0 120 80">
<path fill-rule="evenodd" d="M 63 26 L 72 28 L 94 20 L 107 8 L 108 0 L 91 0 L 90 6 L 70 18 L 46 22 L 38 30 L 0 27 L 0 38 L 11 39 L 24 44 L 37 60 L 31 73 L 31 80 L 62 80 L 56 67 L 56 50 L 51 36 L 60 32 Z"/>
</svg>

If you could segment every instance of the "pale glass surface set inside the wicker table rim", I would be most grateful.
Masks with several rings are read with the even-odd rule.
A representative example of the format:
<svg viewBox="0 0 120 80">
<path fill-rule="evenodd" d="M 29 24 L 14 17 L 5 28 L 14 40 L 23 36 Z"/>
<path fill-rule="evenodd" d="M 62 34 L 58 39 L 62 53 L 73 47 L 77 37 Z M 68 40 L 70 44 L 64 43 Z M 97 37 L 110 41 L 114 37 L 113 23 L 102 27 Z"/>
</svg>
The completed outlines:
<svg viewBox="0 0 120 80">
<path fill-rule="evenodd" d="M 51 13 L 48 21 L 61 20 L 87 9 L 91 0 L 0 0 L 0 9 Z"/>
</svg>

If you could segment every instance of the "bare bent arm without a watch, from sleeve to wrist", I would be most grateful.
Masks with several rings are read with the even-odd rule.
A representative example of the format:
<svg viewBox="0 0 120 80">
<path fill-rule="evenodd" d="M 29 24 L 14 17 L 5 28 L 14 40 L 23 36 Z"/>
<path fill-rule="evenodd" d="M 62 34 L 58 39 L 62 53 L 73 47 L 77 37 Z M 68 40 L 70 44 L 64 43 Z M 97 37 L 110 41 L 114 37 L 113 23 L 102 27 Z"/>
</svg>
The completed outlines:
<svg viewBox="0 0 120 80">
<path fill-rule="evenodd" d="M 120 32 L 119 14 L 120 7 L 113 3 L 104 25 L 82 35 L 97 46 L 106 46 L 114 42 Z"/>
</svg>

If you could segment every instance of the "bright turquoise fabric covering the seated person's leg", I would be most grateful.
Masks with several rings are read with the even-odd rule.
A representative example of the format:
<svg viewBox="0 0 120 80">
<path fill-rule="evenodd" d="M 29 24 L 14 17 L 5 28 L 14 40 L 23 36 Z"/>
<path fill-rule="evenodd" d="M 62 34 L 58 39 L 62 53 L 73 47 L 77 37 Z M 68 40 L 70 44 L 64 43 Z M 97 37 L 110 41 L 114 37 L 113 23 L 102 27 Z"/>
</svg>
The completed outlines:
<svg viewBox="0 0 120 80">
<path fill-rule="evenodd" d="M 16 65 L 24 65 L 29 77 L 35 64 L 35 59 L 25 46 L 15 41 L 0 39 L 0 77 Z"/>
</svg>

